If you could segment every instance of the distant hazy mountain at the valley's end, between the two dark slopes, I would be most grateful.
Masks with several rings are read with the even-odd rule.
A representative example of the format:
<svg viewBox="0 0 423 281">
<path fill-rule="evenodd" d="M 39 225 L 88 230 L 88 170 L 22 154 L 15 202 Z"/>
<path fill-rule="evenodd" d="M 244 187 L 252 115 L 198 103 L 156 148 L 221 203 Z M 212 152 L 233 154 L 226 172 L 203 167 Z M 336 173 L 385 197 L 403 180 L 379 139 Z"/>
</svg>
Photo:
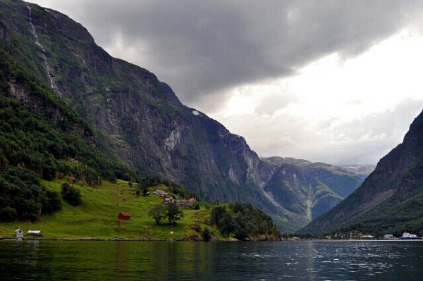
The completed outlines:
<svg viewBox="0 0 423 281">
<path fill-rule="evenodd" d="M 264 185 L 264 192 L 287 211 L 299 215 L 296 220 L 304 225 L 354 192 L 368 175 L 358 166 L 350 172 L 343 167 L 295 158 L 262 160 L 277 167 Z"/>
</svg>

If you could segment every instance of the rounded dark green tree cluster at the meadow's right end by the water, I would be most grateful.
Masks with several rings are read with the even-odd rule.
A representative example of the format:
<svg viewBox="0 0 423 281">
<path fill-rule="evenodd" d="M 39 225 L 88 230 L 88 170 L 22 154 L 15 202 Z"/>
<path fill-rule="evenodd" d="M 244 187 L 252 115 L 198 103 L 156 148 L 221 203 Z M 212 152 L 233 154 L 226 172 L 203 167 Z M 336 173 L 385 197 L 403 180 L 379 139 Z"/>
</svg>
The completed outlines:
<svg viewBox="0 0 423 281">
<path fill-rule="evenodd" d="M 226 206 L 214 206 L 210 223 L 219 227 L 223 235 L 233 234 L 236 239 L 269 235 L 281 237 L 281 232 L 271 218 L 251 204 L 232 203 Z"/>
</svg>

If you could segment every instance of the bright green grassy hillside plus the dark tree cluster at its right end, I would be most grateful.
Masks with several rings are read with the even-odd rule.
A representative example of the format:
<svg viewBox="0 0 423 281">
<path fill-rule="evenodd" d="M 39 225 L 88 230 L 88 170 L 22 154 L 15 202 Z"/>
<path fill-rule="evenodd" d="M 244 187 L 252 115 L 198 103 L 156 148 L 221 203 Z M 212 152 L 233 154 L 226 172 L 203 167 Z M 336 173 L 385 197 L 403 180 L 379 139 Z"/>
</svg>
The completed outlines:
<svg viewBox="0 0 423 281">
<path fill-rule="evenodd" d="M 65 181 L 44 180 L 42 185 L 60 194 L 63 182 Z M 137 196 L 135 187 L 130 187 L 128 182 L 103 181 L 99 187 L 88 185 L 73 185 L 73 187 L 80 190 L 82 204 L 73 206 L 61 198 L 63 206 L 60 211 L 50 216 L 41 216 L 34 223 L 18 220 L 13 223 L 0 223 L 0 237 L 13 237 L 15 230 L 21 228 L 25 234 L 27 230 L 42 230 L 44 239 L 201 239 L 207 227 L 212 237 L 219 240 L 231 239 L 228 238 L 227 232 L 223 232 L 224 235 L 222 235 L 216 222 L 213 223 L 211 213 L 214 210 L 214 204 L 200 204 L 200 209 L 197 210 L 180 207 L 184 216 L 172 226 L 166 219 L 157 224 L 149 216 L 149 210 L 153 206 L 162 204 L 163 199 L 156 195 Z M 152 187 L 150 193 L 154 189 L 167 191 L 168 187 L 165 185 Z M 244 222 L 243 239 L 245 237 L 249 239 L 280 237 L 271 219 L 268 216 L 262 217 L 264 213 L 252 208 L 251 205 L 219 204 L 219 211 L 231 213 L 232 215 L 229 216 L 234 216 L 238 223 Z M 119 223 L 117 216 L 120 212 L 130 213 L 130 220 Z M 248 225 L 247 222 L 255 224 L 256 227 Z M 230 237 L 240 233 L 235 231 L 234 223 L 235 221 L 231 222 Z M 222 227 L 222 224 L 219 227 Z M 251 235 L 250 232 L 255 234 Z"/>
</svg>

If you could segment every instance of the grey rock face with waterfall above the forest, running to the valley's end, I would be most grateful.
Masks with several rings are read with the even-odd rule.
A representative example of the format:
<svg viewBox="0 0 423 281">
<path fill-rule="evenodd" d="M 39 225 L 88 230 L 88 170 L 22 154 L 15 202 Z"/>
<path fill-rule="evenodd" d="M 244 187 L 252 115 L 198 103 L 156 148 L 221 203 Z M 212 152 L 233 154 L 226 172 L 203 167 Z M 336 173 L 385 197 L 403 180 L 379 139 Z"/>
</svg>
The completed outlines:
<svg viewBox="0 0 423 281">
<path fill-rule="evenodd" d="M 250 202 L 283 230 L 305 225 L 360 185 L 353 173 L 355 187 L 344 187 L 330 183 L 336 173 L 262 161 L 243 137 L 181 104 L 153 73 L 109 56 L 59 12 L 1 1 L 0 37 L 4 50 L 87 121 L 99 151 L 141 175 L 164 175 L 206 201 Z M 35 96 L 17 90 L 15 97 L 31 107 Z M 54 106 L 47 110 L 54 114 Z"/>
</svg>

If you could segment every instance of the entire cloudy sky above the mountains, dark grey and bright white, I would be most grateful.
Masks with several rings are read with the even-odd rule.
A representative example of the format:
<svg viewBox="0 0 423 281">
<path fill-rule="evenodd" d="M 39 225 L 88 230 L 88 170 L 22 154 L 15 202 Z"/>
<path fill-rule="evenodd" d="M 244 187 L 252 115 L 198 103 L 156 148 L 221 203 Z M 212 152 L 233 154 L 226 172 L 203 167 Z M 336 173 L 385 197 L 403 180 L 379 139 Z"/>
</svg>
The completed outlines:
<svg viewBox="0 0 423 281">
<path fill-rule="evenodd" d="M 81 23 L 260 157 L 376 164 L 423 110 L 423 1 L 30 2 Z"/>
</svg>

